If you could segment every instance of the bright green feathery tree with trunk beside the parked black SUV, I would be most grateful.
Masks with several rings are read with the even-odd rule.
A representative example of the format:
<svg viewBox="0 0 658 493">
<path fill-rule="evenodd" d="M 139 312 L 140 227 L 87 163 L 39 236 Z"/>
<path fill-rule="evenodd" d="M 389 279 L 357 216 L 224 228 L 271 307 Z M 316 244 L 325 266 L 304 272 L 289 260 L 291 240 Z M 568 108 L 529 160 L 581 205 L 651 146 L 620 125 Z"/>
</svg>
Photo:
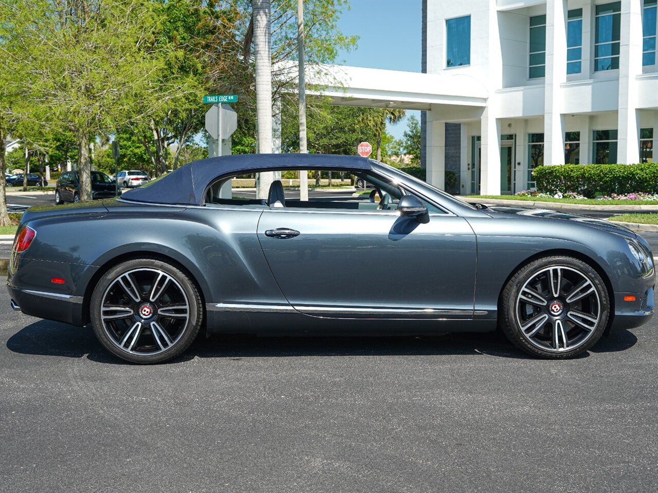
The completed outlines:
<svg viewBox="0 0 658 493">
<path fill-rule="evenodd" d="M 7 0 L 10 43 L 28 83 L 22 115 L 70 131 L 78 147 L 81 199 L 91 199 L 89 143 L 95 135 L 154 114 L 180 94 L 159 84 L 165 64 L 148 0 Z M 139 105 L 140 101 L 149 105 Z M 138 113 L 138 114 L 136 114 Z"/>
</svg>

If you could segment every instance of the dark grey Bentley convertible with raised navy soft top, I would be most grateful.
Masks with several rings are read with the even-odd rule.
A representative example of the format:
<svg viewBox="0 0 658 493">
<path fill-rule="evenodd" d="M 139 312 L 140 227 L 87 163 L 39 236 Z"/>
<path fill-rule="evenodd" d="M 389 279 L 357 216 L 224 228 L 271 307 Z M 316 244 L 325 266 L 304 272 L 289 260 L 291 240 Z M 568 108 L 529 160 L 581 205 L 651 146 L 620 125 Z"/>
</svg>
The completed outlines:
<svg viewBox="0 0 658 493">
<path fill-rule="evenodd" d="M 381 199 L 290 199 L 278 180 L 266 199 L 232 195 L 232 177 L 272 170 L 351 173 Z M 355 264 L 371 282 L 345 275 Z M 359 156 L 242 154 L 192 162 L 118 199 L 30 208 L 7 284 L 14 310 L 91 322 L 107 350 L 137 363 L 173 358 L 201 329 L 501 327 L 522 350 L 559 359 L 645 323 L 655 271 L 642 237 L 603 220 L 470 206 Z"/>
</svg>

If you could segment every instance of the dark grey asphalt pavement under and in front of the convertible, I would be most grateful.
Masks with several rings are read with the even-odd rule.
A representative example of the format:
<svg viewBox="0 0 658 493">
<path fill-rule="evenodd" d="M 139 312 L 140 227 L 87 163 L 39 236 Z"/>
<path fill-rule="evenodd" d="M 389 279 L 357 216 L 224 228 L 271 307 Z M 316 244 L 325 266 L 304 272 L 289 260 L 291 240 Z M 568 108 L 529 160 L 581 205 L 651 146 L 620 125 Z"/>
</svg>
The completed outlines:
<svg viewBox="0 0 658 493">
<path fill-rule="evenodd" d="M 0 290 L 3 492 L 655 492 L 658 319 L 581 358 L 502 335 L 199 337 L 123 364 Z"/>
</svg>

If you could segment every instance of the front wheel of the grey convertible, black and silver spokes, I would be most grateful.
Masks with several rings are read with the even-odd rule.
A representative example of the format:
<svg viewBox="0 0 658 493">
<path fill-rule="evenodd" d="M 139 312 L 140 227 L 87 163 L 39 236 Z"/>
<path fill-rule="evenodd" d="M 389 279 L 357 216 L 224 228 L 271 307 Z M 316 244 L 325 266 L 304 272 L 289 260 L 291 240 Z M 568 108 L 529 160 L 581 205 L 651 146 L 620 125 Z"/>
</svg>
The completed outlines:
<svg viewBox="0 0 658 493">
<path fill-rule="evenodd" d="M 547 257 L 521 268 L 501 296 L 501 326 L 522 350 L 571 358 L 599 340 L 609 317 L 603 280 L 588 264 Z"/>
</svg>

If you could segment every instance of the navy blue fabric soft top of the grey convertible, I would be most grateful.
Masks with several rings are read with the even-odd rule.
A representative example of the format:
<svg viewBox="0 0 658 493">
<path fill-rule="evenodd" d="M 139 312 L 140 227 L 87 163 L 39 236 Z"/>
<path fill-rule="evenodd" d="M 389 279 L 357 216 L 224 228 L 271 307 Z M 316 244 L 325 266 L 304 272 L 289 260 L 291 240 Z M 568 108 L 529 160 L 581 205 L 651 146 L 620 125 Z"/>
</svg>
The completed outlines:
<svg viewBox="0 0 658 493">
<path fill-rule="evenodd" d="M 202 205 L 208 185 L 220 176 L 255 170 L 370 170 L 368 158 L 334 154 L 235 154 L 199 159 L 159 177 L 121 198 L 151 204 Z"/>
</svg>

